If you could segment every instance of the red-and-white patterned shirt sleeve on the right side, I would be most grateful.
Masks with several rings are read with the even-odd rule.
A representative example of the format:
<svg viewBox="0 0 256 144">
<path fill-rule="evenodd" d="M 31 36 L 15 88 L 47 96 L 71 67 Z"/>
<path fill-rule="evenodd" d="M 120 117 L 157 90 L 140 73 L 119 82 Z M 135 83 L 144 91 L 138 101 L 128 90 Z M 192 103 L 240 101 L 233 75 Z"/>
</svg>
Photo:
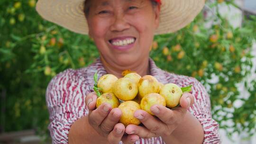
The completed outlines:
<svg viewBox="0 0 256 144">
<path fill-rule="evenodd" d="M 190 78 L 189 83 L 193 84 L 191 93 L 195 97 L 194 104 L 189 111 L 197 117 L 203 127 L 203 144 L 220 144 L 219 124 L 212 119 L 209 94 L 195 78 Z"/>
</svg>

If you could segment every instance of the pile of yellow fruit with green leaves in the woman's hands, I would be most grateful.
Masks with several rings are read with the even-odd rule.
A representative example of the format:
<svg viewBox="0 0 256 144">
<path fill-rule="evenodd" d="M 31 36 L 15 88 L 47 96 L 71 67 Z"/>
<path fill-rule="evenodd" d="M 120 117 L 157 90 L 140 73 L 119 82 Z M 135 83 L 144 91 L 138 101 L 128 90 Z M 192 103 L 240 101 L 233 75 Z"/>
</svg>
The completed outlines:
<svg viewBox="0 0 256 144">
<path fill-rule="evenodd" d="M 106 102 L 112 108 L 120 108 L 122 111 L 120 122 L 125 126 L 140 124 L 140 121 L 133 117 L 137 109 L 143 109 L 154 115 L 150 108 L 155 104 L 167 108 L 178 107 L 183 92 L 191 91 L 192 87 L 190 85 L 180 88 L 174 83 L 164 85 L 151 75 L 141 77 L 136 72 L 128 73 L 120 79 L 113 74 L 103 75 L 99 81 L 97 79 L 95 73 L 94 91 L 98 96 L 96 107 Z"/>
</svg>

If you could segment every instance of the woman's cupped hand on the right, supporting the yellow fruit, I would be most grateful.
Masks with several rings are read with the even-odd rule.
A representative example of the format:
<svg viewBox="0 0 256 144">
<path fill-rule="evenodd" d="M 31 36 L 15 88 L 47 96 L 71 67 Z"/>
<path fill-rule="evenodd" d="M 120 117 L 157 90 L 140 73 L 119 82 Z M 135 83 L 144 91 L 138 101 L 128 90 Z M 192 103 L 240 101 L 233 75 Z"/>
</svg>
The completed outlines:
<svg viewBox="0 0 256 144">
<path fill-rule="evenodd" d="M 137 110 L 134 117 L 138 118 L 144 126 L 128 125 L 125 132 L 141 138 L 170 136 L 175 128 L 183 123 L 187 109 L 193 103 L 194 96 L 190 93 L 183 93 L 180 99 L 181 106 L 174 110 L 160 105 L 152 106 L 151 111 L 156 117 L 144 110 Z"/>
</svg>

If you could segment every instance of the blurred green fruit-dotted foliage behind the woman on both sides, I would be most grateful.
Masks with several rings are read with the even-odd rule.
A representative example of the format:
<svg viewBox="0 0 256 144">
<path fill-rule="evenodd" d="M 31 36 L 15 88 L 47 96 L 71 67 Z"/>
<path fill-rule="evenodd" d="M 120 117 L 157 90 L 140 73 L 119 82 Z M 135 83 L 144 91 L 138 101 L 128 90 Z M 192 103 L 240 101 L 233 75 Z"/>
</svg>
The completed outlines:
<svg viewBox="0 0 256 144">
<path fill-rule="evenodd" d="M 219 3 L 231 5 L 232 1 Z M 216 9 L 219 3 L 207 5 Z M 99 56 L 88 36 L 43 20 L 35 4 L 36 0 L 0 0 L 0 108 L 5 111 L 0 115 L 1 131 L 34 128 L 45 134 L 48 82 L 56 73 L 85 67 Z M 218 11 L 210 18 L 205 14 L 203 11 L 176 33 L 155 36 L 151 57 L 160 68 L 193 76 L 204 84 L 221 128 L 229 134 L 252 135 L 256 129 L 256 81 L 244 80 L 251 75 L 256 18 L 245 18 L 242 27 L 233 28 Z M 214 25 L 205 27 L 210 20 Z M 217 81 L 209 81 L 212 79 Z M 239 92 L 238 83 L 245 85 L 247 98 Z M 233 106 L 236 101 L 241 107 Z"/>
</svg>

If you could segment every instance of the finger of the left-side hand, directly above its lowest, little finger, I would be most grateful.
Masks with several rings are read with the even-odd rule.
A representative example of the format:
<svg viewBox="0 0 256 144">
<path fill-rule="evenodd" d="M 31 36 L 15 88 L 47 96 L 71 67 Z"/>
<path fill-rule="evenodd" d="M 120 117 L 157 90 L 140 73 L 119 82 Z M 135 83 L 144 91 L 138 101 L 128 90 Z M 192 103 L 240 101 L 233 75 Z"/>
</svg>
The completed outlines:
<svg viewBox="0 0 256 144">
<path fill-rule="evenodd" d="M 110 144 L 119 144 L 122 136 L 125 132 L 125 126 L 121 123 L 115 125 L 114 129 L 108 135 L 108 141 Z"/>
</svg>

